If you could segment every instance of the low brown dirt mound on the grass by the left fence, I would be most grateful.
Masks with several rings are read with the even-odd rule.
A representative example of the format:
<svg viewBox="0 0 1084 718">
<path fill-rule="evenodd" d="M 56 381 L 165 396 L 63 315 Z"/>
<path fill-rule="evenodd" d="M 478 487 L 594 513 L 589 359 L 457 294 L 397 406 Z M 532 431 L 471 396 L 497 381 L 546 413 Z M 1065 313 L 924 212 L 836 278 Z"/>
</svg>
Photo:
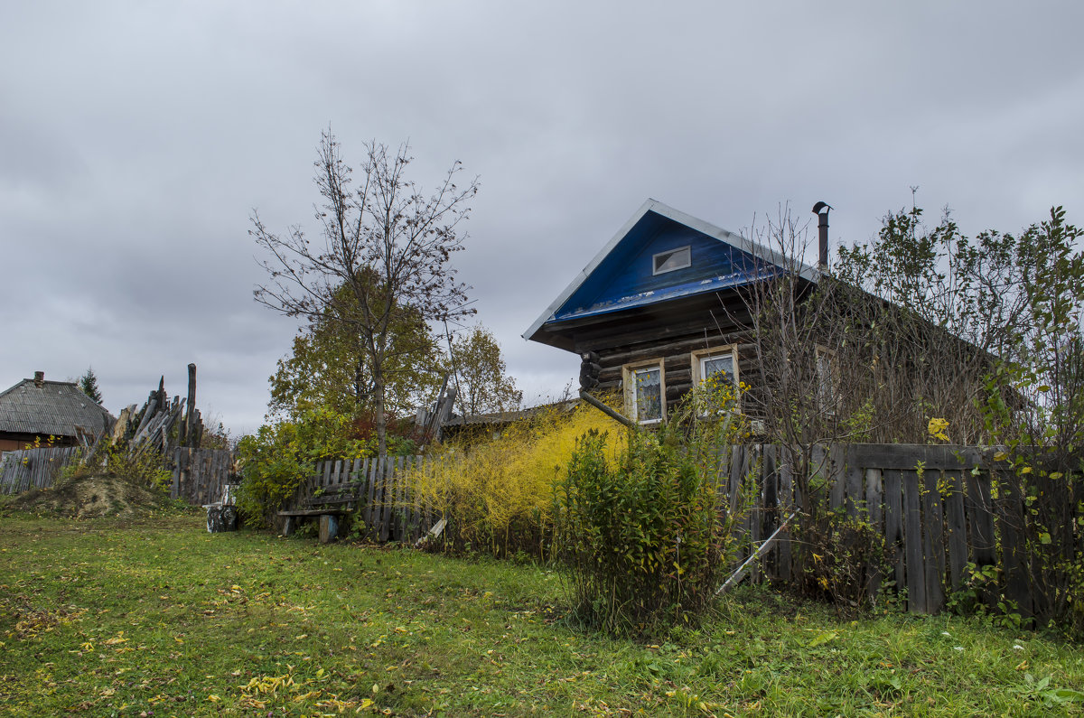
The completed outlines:
<svg viewBox="0 0 1084 718">
<path fill-rule="evenodd" d="M 163 508 L 169 499 L 121 476 L 80 476 L 51 489 L 23 493 L 11 505 L 18 511 L 50 511 L 75 518 L 130 517 Z"/>
</svg>

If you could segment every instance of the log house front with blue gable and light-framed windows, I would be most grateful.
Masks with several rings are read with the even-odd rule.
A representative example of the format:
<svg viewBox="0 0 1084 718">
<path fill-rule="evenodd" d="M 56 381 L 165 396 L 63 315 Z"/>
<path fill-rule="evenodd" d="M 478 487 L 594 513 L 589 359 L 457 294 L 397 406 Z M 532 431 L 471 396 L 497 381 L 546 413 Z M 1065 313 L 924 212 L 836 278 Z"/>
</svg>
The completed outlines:
<svg viewBox="0 0 1084 718">
<path fill-rule="evenodd" d="M 777 252 L 648 200 L 524 333 L 597 360 L 597 393 L 621 392 L 641 423 L 694 384 L 734 382 L 754 361 L 743 287 L 792 267 Z M 821 273 L 797 268 L 801 283 Z M 593 355 L 597 355 L 597 358 Z"/>
</svg>

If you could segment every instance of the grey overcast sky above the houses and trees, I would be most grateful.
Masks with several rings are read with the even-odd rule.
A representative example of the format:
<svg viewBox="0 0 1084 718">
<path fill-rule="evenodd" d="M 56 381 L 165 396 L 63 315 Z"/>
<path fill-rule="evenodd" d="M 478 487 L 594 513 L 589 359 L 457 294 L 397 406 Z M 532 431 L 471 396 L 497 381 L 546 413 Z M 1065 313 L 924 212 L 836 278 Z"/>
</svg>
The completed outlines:
<svg viewBox="0 0 1084 718">
<path fill-rule="evenodd" d="M 520 334 L 647 197 L 732 231 L 835 207 L 1016 232 L 1084 223 L 1084 3 L 4 2 L 0 390 L 98 374 L 114 413 L 165 374 L 235 434 L 296 320 L 248 236 L 314 229 L 312 162 L 409 140 L 481 190 L 455 256 L 529 399 L 578 358 Z M 815 227 L 812 228 L 815 233 Z"/>
</svg>

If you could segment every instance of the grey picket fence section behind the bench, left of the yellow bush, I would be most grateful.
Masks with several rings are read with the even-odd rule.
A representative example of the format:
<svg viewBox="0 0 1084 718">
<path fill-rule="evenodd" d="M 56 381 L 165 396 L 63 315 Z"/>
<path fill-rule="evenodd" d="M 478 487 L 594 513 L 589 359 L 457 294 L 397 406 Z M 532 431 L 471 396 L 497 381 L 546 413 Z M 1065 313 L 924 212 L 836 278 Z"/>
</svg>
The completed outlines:
<svg viewBox="0 0 1084 718">
<path fill-rule="evenodd" d="M 431 504 L 411 490 L 409 472 L 422 467 L 425 457 L 373 457 L 324 461 L 298 487 L 286 510 L 297 509 L 305 499 L 330 489 L 357 497 L 357 516 L 364 522 L 365 535 L 374 541 L 416 541 L 440 518 Z M 348 485 L 348 486 L 344 486 Z"/>
</svg>

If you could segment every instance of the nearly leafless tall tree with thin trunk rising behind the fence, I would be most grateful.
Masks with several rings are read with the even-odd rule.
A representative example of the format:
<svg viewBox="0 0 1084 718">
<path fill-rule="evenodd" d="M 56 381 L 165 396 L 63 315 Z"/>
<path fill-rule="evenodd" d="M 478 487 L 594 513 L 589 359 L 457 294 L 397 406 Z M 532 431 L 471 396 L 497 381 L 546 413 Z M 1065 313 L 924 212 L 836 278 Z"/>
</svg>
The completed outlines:
<svg viewBox="0 0 1084 718">
<path fill-rule="evenodd" d="M 454 182 L 452 165 L 428 196 L 405 177 L 413 159 L 410 148 L 390 152 L 373 141 L 360 182 L 339 156 L 330 130 L 320 139 L 315 181 L 324 204 L 317 207 L 323 241 L 313 242 L 295 226 L 286 234 L 267 229 L 254 210 L 256 243 L 273 255 L 262 261 L 270 281 L 254 292 L 260 304 L 309 321 L 332 318 L 356 332 L 372 372 L 376 437 L 387 449 L 385 394 L 387 371 L 395 359 L 395 325 L 404 310 L 425 321 L 444 321 L 474 313 L 469 287 L 456 282 L 451 255 L 463 249 L 459 223 L 478 192 L 477 178 L 465 187 Z M 346 293 L 337 292 L 346 287 Z M 328 311 L 330 310 L 330 311 Z"/>
</svg>

